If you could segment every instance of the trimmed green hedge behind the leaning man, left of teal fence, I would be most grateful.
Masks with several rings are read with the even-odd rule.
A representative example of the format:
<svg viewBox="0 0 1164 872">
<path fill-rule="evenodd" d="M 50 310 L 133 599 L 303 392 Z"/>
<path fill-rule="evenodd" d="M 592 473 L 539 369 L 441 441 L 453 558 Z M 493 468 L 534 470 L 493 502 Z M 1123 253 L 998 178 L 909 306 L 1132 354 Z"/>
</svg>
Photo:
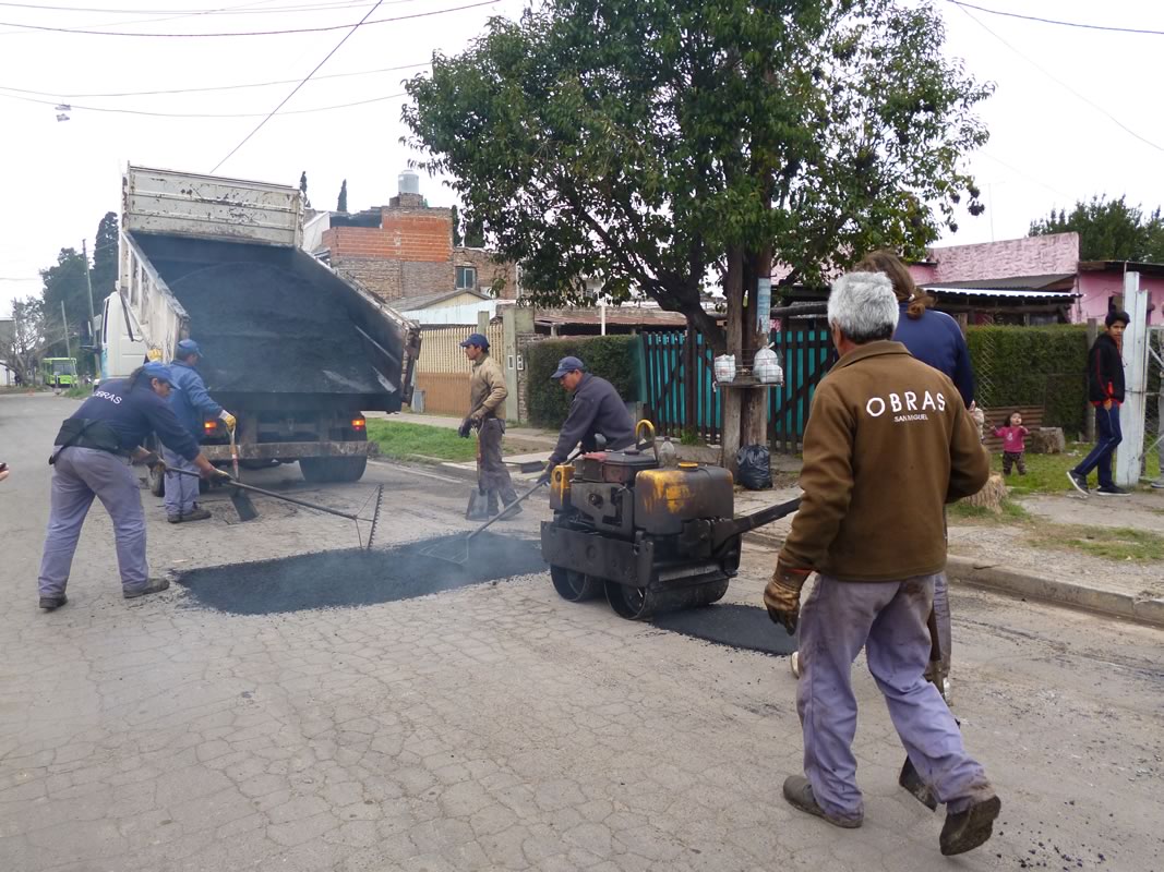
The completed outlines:
<svg viewBox="0 0 1164 872">
<path fill-rule="evenodd" d="M 549 377 L 558 369 L 558 362 L 569 355 L 582 358 L 588 372 L 612 384 L 624 401 L 638 400 L 640 345 L 638 336 L 579 336 L 527 346 L 530 421 L 538 427 L 558 428 L 566 420 L 570 395 Z"/>
</svg>

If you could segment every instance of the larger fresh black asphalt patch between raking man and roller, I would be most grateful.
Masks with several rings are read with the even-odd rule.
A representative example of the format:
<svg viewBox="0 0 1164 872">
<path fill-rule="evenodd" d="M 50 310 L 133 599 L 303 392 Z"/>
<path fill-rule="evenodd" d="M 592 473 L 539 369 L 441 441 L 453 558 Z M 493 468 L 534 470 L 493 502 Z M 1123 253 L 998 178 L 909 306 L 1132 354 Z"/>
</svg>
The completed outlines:
<svg viewBox="0 0 1164 872">
<path fill-rule="evenodd" d="M 542 572 L 533 539 L 483 533 L 459 565 L 419 553 L 464 553 L 464 537 L 441 536 L 388 551 L 318 551 L 277 560 L 208 566 L 180 573 L 183 585 L 206 608 L 235 615 L 271 615 L 314 608 L 370 606 Z"/>
</svg>

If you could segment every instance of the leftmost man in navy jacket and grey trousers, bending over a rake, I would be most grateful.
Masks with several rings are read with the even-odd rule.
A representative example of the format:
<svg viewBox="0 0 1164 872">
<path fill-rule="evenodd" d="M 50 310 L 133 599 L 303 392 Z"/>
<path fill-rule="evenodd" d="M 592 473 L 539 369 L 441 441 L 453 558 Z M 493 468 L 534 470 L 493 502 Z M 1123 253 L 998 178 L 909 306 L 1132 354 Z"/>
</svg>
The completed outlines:
<svg viewBox="0 0 1164 872">
<path fill-rule="evenodd" d="M 130 600 L 170 586 L 164 578 L 149 577 L 146 516 L 129 465 L 157 462 L 156 455 L 142 448 L 152 431 L 204 478 L 221 474 L 203 457 L 166 402 L 172 384 L 169 366 L 148 363 L 127 379 L 102 383 L 61 426 L 49 458 L 52 499 L 38 579 L 41 608 L 47 612 L 65 605 L 73 551 L 94 496 L 113 521 L 122 596 Z"/>
</svg>

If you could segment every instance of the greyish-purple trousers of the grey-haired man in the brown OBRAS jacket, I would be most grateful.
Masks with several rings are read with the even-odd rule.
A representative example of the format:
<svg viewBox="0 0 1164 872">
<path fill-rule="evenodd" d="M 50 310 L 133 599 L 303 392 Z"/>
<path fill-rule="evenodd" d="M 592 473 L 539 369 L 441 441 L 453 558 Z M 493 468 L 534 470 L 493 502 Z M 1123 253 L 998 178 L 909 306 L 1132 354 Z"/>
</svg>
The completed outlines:
<svg viewBox="0 0 1164 872">
<path fill-rule="evenodd" d="M 909 759 L 952 813 L 994 795 L 982 767 L 938 689 L 924 678 L 930 656 L 927 619 L 936 576 L 901 581 L 817 578 L 801 612 L 796 709 L 804 732 L 804 774 L 831 816 L 864 815 L 857 786 L 857 699 L 852 665 L 865 648 L 870 672 Z"/>
</svg>

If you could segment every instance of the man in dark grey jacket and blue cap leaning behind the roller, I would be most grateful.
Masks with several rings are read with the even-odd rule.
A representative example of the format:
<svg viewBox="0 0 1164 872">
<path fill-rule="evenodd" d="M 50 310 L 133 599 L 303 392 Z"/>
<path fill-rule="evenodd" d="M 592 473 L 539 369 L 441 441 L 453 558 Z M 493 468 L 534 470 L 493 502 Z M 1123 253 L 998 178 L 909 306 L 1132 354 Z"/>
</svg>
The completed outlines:
<svg viewBox="0 0 1164 872">
<path fill-rule="evenodd" d="M 549 481 L 554 466 L 569 457 L 579 443 L 582 443 L 583 451 L 596 450 L 596 436 L 605 438 L 606 448 L 613 451 L 634 444 L 634 420 L 618 391 L 606 379 L 587 372 L 585 364 L 573 356 L 559 360 L 549 378 L 561 383 L 565 391 L 574 394 L 574 399 L 540 481 Z"/>
</svg>

